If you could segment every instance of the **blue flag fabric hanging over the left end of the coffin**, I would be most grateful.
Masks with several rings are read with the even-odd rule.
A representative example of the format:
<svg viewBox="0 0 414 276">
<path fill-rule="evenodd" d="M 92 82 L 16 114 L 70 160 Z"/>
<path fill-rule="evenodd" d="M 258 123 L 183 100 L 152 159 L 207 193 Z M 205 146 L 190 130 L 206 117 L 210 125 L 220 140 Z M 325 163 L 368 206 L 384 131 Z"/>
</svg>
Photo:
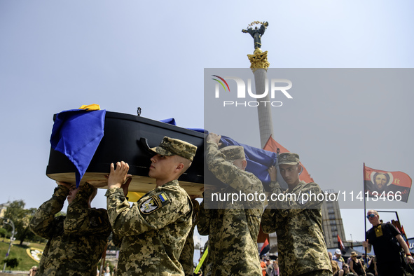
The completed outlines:
<svg viewBox="0 0 414 276">
<path fill-rule="evenodd" d="M 102 137 L 106 110 L 72 109 L 56 115 L 50 144 L 76 167 L 76 188 L 90 164 Z"/>
</svg>

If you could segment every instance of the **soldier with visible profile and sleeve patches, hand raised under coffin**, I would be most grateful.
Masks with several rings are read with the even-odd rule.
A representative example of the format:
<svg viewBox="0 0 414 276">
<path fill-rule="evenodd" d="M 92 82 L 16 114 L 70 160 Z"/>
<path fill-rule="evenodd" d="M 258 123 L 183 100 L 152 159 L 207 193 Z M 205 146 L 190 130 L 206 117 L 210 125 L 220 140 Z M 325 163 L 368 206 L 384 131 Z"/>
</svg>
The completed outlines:
<svg viewBox="0 0 414 276">
<path fill-rule="evenodd" d="M 117 275 L 184 275 L 178 259 L 191 230 L 193 205 L 178 178 L 195 156 L 197 147 L 179 139 L 164 137 L 152 148 L 149 177 L 156 188 L 132 207 L 125 198 L 129 166 L 111 164 L 106 191 L 109 221 L 120 237 Z M 122 187 L 124 186 L 124 187 Z"/>
</svg>

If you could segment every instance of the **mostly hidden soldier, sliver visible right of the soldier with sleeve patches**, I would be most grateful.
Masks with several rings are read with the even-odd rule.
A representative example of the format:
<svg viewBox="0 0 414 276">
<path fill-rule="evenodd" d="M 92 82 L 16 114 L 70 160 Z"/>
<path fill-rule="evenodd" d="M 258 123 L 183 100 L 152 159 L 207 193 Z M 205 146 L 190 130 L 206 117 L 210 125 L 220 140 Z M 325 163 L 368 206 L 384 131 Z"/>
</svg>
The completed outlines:
<svg viewBox="0 0 414 276">
<path fill-rule="evenodd" d="M 190 197 L 192 198 L 192 196 Z M 192 199 L 191 202 L 193 203 L 193 226 L 191 226 L 190 233 L 188 233 L 186 242 L 184 243 L 183 251 L 181 251 L 181 255 L 179 258 L 179 262 L 183 266 L 184 273 L 186 276 L 193 276 L 194 274 L 194 228 L 197 225 L 198 220 L 198 209 L 200 203 L 197 200 Z"/>
</svg>

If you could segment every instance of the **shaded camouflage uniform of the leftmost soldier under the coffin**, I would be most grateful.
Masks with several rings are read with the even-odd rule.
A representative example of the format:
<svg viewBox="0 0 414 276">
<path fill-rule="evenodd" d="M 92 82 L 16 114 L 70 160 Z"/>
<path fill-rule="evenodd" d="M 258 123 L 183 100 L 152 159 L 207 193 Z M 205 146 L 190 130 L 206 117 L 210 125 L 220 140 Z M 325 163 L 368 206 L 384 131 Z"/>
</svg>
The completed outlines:
<svg viewBox="0 0 414 276">
<path fill-rule="evenodd" d="M 57 216 L 69 188 L 57 186 L 50 200 L 36 210 L 31 230 L 48 239 L 36 275 L 93 275 L 111 233 L 105 209 L 88 208 L 93 187 L 81 186 L 66 216 Z"/>
</svg>

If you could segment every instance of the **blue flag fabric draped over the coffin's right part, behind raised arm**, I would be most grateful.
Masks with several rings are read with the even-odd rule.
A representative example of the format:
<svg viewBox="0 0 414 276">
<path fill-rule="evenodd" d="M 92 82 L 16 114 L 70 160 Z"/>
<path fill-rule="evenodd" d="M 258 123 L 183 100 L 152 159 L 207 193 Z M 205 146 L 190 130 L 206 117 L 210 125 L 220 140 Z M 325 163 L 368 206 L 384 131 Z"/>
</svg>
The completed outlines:
<svg viewBox="0 0 414 276">
<path fill-rule="evenodd" d="M 164 123 L 173 122 L 170 124 L 176 125 L 174 118 L 161 121 Z M 209 133 L 207 130 L 203 130 L 201 128 L 189 128 L 189 130 L 194 130 L 205 134 Z M 274 153 L 272 151 L 265 151 L 264 149 L 258 149 L 254 146 L 248 146 L 246 144 L 240 144 L 230 137 L 223 135 L 221 136 L 221 143 L 223 143 L 222 146 L 242 146 L 244 148 L 244 153 L 246 154 L 246 160 L 248 160 L 246 171 L 256 175 L 256 177 L 260 179 L 263 184 L 270 184 L 268 168 L 272 165 L 276 165 L 277 153 Z"/>
</svg>

